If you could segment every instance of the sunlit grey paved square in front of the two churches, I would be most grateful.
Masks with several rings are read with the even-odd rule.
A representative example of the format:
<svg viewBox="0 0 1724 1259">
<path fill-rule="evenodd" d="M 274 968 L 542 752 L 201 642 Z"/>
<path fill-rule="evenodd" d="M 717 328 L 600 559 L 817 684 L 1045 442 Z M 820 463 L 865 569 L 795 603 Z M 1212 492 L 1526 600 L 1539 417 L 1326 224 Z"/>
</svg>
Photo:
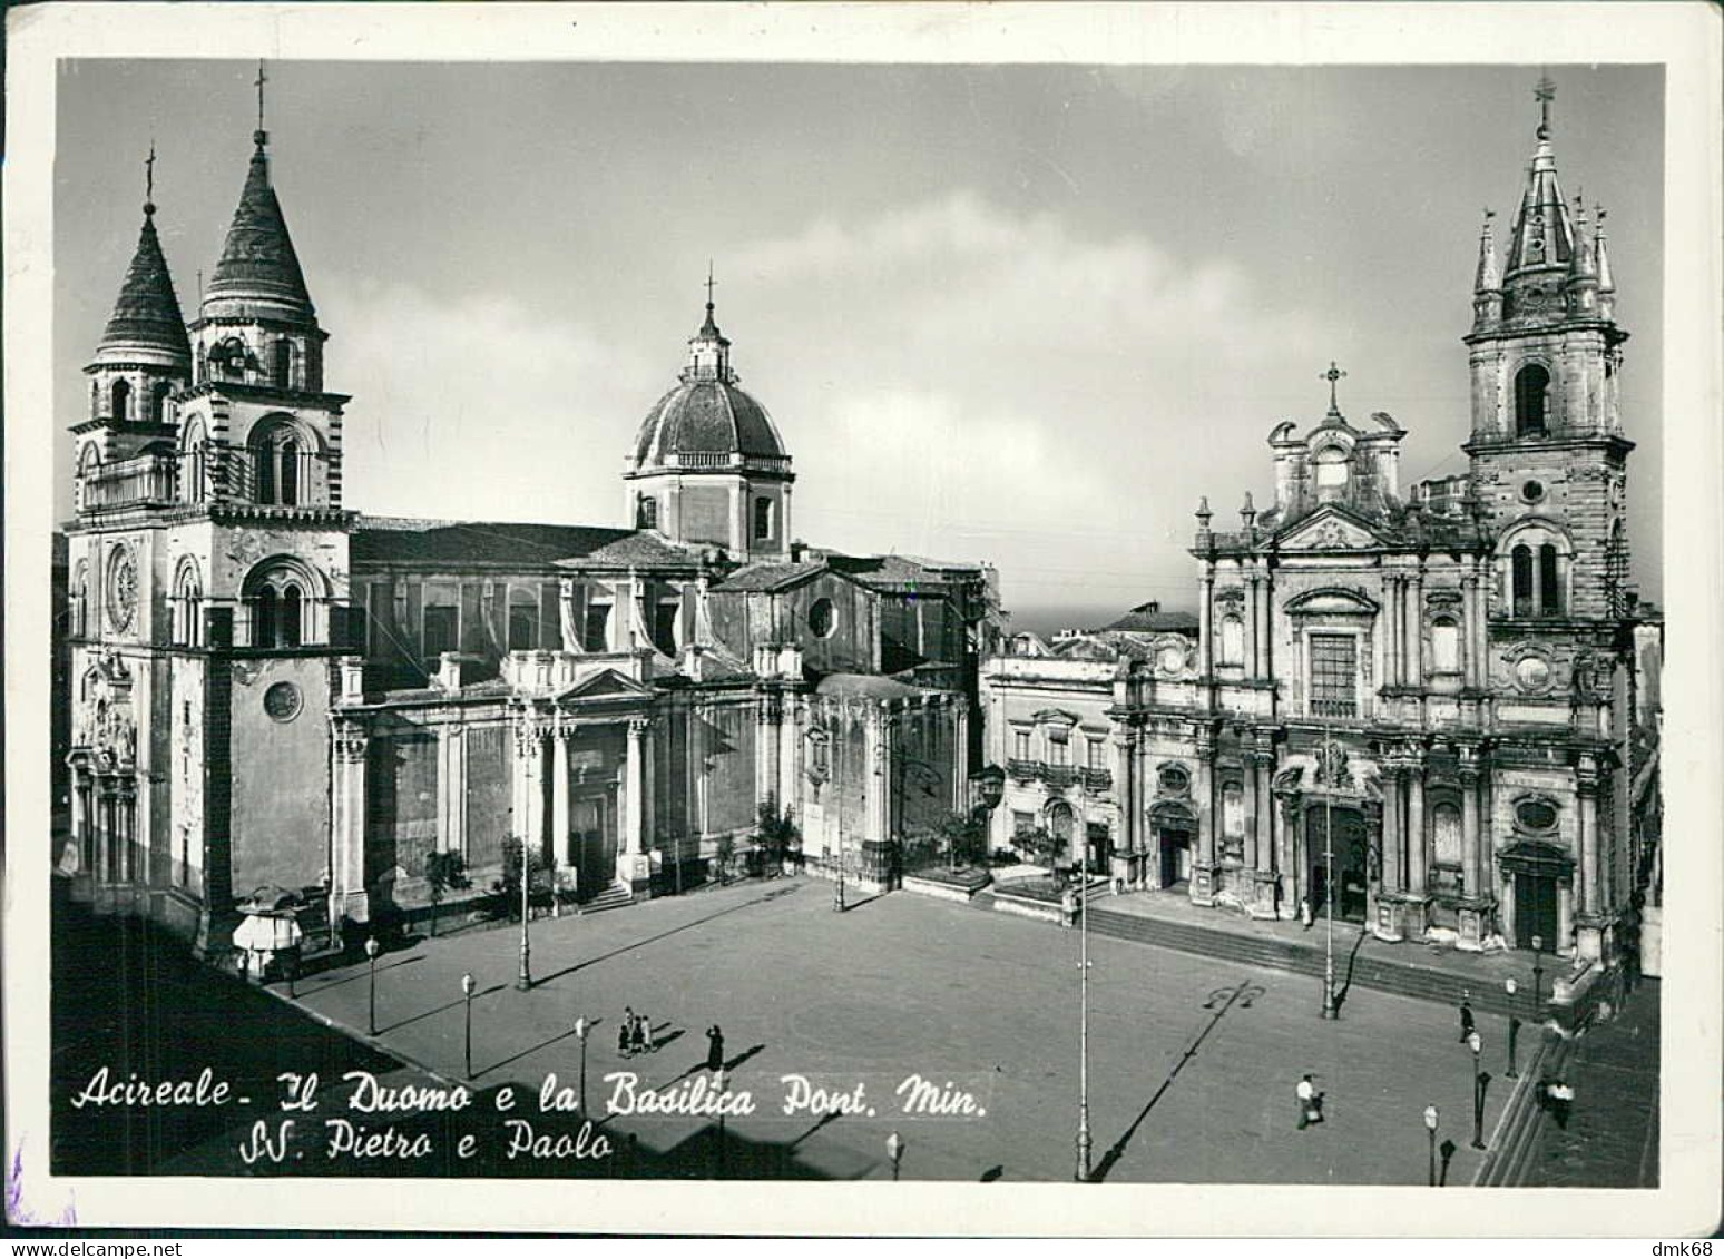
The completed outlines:
<svg viewBox="0 0 1724 1259">
<path fill-rule="evenodd" d="M 455 925 L 453 916 L 450 927 Z M 1338 937 L 1340 940 L 1352 937 Z M 893 894 L 833 911 L 828 884 L 746 882 L 629 909 L 533 923 L 533 992 L 514 989 L 519 928 L 460 928 L 378 963 L 378 1040 L 434 1071 L 462 1071 L 460 977 L 471 971 L 474 1076 L 483 1088 L 538 1090 L 579 1075 L 576 1016 L 598 1020 L 588 1045 L 590 1104 L 602 1113 L 633 1071 L 641 1087 L 691 1085 L 705 1028 L 719 1023 L 731 1088 L 757 1113 L 728 1119 L 734 1150 L 790 1150 L 793 1175 L 890 1175 L 886 1137 L 905 1140 L 905 1180 L 1069 1180 L 1078 1121 L 1079 933 L 1002 913 Z M 1465 1183 L 1472 1061 L 1452 1009 L 1355 990 L 1343 1018 L 1319 1018 L 1321 985 L 1122 940 L 1090 937 L 1093 1166 L 1109 1181 L 1422 1185 L 1421 1113 L 1441 1111 Z M 298 985 L 300 1004 L 365 1026 L 365 968 Z M 662 1049 L 622 1061 L 629 1004 Z M 1483 1018 L 1493 1071 L 1484 1135 L 1508 1097 L 1502 1020 Z M 1529 1039 L 1527 1039 L 1529 1040 Z M 1527 1045 L 1522 1044 L 1522 1054 Z M 741 1061 L 738 1061 L 741 1059 Z M 1298 1132 L 1302 1071 L 1327 1095 L 1326 1123 Z M 905 1118 L 891 1095 L 910 1073 L 976 1097 L 986 1114 Z M 848 1092 L 865 1083 L 874 1116 L 783 1116 L 786 1075 Z M 614 1116 L 646 1154 L 712 1144 L 710 1119 Z M 703 1132 L 705 1130 L 705 1132 Z M 705 1166 L 705 1164 L 698 1164 Z M 541 1173 L 543 1175 L 543 1173 Z M 684 1175 L 702 1175 L 698 1169 Z"/>
</svg>

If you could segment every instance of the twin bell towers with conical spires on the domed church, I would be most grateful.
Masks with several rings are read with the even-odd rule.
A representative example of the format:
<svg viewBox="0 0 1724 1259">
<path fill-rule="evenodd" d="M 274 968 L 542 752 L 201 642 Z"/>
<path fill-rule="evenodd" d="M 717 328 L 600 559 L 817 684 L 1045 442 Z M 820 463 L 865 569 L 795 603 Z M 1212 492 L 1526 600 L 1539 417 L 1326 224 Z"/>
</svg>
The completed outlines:
<svg viewBox="0 0 1724 1259">
<path fill-rule="evenodd" d="M 259 67 L 252 162 L 190 338 L 147 203 L 74 427 L 79 865 L 98 908 L 217 954 L 255 889 L 331 878 L 328 711 L 348 641 L 347 398 L 322 388 L 264 83 Z"/>
</svg>

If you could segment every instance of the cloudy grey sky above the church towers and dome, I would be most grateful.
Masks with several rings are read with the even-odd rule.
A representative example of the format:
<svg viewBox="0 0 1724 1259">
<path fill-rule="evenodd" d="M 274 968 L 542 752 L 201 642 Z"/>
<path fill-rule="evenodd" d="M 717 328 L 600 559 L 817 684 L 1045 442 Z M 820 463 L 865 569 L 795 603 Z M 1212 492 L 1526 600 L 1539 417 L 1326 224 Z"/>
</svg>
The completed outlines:
<svg viewBox="0 0 1724 1259">
<path fill-rule="evenodd" d="M 352 393 L 348 505 L 621 524 L 622 451 L 700 324 L 796 460 L 795 532 L 998 565 L 1021 623 L 1193 601 L 1198 494 L 1271 501 L 1265 434 L 1341 406 L 1464 470 L 1481 210 L 1540 67 L 269 67 L 276 188 Z M 1634 339 L 1636 577 L 1660 598 L 1660 67 L 1550 67 L 1564 191 L 1610 212 Z M 57 422 L 157 224 L 190 317 L 255 65 L 66 62 Z M 57 508 L 71 508 L 57 437 Z"/>
</svg>

